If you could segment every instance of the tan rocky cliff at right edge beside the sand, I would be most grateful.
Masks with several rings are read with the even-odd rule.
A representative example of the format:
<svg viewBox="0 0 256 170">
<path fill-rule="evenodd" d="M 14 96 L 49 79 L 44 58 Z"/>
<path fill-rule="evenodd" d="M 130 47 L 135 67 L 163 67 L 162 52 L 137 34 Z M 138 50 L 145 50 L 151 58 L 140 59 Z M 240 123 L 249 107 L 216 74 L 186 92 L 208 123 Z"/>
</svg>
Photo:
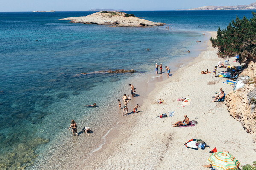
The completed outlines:
<svg viewBox="0 0 256 170">
<path fill-rule="evenodd" d="M 253 142 L 256 142 L 256 64 L 250 62 L 241 75 L 248 75 L 252 80 L 244 88 L 231 91 L 226 96 L 225 103 L 230 116 L 241 122 L 244 130 L 250 133 Z"/>
</svg>

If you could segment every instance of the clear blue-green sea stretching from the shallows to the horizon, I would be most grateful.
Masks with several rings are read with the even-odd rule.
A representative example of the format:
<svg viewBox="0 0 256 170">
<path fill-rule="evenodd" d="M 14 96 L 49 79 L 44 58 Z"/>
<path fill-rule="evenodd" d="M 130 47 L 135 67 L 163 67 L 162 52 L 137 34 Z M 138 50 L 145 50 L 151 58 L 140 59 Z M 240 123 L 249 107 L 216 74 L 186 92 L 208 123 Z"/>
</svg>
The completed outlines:
<svg viewBox="0 0 256 170">
<path fill-rule="evenodd" d="M 154 82 L 167 78 L 164 66 L 172 75 L 204 50 L 209 31 L 227 28 L 237 16 L 251 18 L 252 11 L 125 11 L 166 23 L 156 27 L 58 21 L 91 11 L 0 12 L 0 169 L 37 169 L 73 147 L 85 126 L 92 128 L 94 141 L 87 158 L 123 118 L 117 99 L 130 94 L 129 83 L 137 87 L 134 99 L 141 104 Z M 155 63 L 163 63 L 163 74 L 156 75 Z M 110 69 L 137 72 L 102 73 Z M 86 106 L 94 102 L 96 108 Z M 68 131 L 72 119 L 79 136 Z"/>
</svg>

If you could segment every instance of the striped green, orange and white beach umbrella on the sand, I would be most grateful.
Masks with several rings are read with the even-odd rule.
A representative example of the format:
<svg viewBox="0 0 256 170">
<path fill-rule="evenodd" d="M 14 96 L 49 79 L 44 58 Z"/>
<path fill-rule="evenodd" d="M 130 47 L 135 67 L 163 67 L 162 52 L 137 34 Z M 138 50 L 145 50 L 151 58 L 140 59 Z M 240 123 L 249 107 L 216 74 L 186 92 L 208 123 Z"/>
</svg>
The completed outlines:
<svg viewBox="0 0 256 170">
<path fill-rule="evenodd" d="M 238 168 L 240 162 L 227 152 L 215 152 L 207 159 L 213 168 L 219 170 L 232 170 Z"/>
</svg>

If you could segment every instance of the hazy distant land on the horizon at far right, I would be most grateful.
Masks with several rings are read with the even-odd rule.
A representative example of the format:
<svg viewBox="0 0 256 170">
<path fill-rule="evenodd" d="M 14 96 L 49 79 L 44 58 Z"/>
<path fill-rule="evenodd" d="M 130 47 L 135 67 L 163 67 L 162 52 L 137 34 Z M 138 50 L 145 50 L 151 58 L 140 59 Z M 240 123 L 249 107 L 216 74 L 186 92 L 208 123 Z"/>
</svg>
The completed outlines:
<svg viewBox="0 0 256 170">
<path fill-rule="evenodd" d="M 186 9 L 186 10 L 246 10 L 256 9 L 256 2 L 250 5 L 237 5 L 237 6 L 202 6 L 198 8 Z"/>
</svg>

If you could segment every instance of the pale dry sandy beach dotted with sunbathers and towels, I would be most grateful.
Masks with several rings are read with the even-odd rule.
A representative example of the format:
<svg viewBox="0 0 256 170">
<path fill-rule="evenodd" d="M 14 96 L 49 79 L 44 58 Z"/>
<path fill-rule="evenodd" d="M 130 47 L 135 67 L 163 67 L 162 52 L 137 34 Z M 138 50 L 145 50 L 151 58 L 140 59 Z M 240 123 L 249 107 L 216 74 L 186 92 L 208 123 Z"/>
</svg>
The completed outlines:
<svg viewBox="0 0 256 170">
<path fill-rule="evenodd" d="M 215 32 L 207 34 L 216 36 Z M 206 69 L 213 72 L 219 60 L 225 61 L 218 58 L 217 50 L 212 48 L 210 41 L 201 43 L 207 43 L 206 50 L 188 65 L 171 73 L 173 75 L 169 79 L 157 82 L 156 88 L 139 108 L 140 112 L 123 116 L 106 136 L 102 149 L 90 157 L 84 156 L 84 160 L 75 165 L 76 169 L 207 170 L 202 165 L 209 164 L 209 151 L 215 147 L 218 151 L 228 150 L 241 165 L 252 164 L 256 160 L 256 144 L 250 134 L 240 122 L 230 117 L 224 102 L 212 102 L 212 96 L 220 88 L 228 94 L 233 87 L 223 83 L 225 78 L 212 78 L 212 73 L 200 74 Z M 229 60 L 230 65 L 239 65 L 232 62 L 233 58 Z M 218 68 L 217 75 L 224 70 L 226 68 Z M 177 101 L 181 97 L 189 98 L 191 104 L 182 107 L 182 102 Z M 164 100 L 162 104 L 157 103 L 160 98 Z M 139 101 L 139 98 L 134 99 Z M 132 108 L 130 105 L 129 111 Z M 166 118 L 157 118 L 168 111 L 175 111 L 174 116 L 167 114 Z M 185 114 L 198 124 L 194 127 L 172 127 L 173 123 L 182 121 Z M 204 140 L 210 148 L 186 148 L 184 143 L 196 138 Z"/>
</svg>

